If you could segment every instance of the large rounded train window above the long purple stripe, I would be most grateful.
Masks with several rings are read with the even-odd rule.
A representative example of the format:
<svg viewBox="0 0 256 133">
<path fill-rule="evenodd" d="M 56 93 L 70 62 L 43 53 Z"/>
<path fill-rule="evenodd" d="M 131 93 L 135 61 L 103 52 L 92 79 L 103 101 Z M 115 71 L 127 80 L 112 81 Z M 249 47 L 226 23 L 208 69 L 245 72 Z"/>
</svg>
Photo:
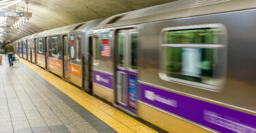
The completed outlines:
<svg viewBox="0 0 256 133">
<path fill-rule="evenodd" d="M 225 76 L 222 25 L 165 29 L 160 45 L 160 78 L 203 89 L 220 89 Z"/>
</svg>

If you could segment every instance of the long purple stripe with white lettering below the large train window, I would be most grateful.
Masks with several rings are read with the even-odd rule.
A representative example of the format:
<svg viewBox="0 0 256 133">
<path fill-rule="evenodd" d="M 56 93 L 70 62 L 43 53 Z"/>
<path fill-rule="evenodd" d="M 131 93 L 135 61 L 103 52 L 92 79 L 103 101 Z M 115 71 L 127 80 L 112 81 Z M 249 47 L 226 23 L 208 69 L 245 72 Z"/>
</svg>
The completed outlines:
<svg viewBox="0 0 256 133">
<path fill-rule="evenodd" d="M 256 132 L 256 116 L 140 84 L 141 101 L 218 132 Z"/>
</svg>

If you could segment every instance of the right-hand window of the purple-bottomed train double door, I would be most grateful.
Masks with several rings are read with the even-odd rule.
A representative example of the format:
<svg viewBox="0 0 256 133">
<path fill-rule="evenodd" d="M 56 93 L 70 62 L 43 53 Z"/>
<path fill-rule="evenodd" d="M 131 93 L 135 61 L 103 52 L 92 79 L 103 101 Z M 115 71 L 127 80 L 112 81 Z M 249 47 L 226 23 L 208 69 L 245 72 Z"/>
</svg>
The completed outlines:
<svg viewBox="0 0 256 133">
<path fill-rule="evenodd" d="M 132 70 L 137 70 L 137 48 L 138 48 L 138 33 L 137 31 L 130 30 L 130 63 L 129 68 Z"/>
</svg>

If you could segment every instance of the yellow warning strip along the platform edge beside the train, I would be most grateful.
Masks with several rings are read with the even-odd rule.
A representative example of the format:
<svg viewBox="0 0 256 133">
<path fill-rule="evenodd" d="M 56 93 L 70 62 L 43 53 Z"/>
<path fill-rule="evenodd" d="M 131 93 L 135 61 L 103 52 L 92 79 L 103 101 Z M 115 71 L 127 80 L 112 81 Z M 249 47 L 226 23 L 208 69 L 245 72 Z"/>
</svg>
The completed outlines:
<svg viewBox="0 0 256 133">
<path fill-rule="evenodd" d="M 136 119 L 122 113 L 120 110 L 109 106 L 84 91 L 81 91 L 81 89 L 61 80 L 61 78 L 51 74 L 50 72 L 42 70 L 42 68 L 37 65 L 32 65 L 32 63 L 24 59 L 20 59 L 20 62 L 27 65 L 28 68 L 42 76 L 42 78 L 57 87 L 57 89 L 66 93 L 66 95 L 72 98 L 72 100 L 81 104 L 81 106 L 96 115 L 96 117 L 104 121 L 117 132 L 156 132 L 152 128 L 147 127 L 147 125 L 144 125 Z"/>
</svg>

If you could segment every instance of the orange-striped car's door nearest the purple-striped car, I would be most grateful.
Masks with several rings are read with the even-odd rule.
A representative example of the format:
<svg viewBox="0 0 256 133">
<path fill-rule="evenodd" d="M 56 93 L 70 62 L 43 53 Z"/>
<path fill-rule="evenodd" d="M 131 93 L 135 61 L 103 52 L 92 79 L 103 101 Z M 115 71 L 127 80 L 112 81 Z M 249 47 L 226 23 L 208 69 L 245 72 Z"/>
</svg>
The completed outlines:
<svg viewBox="0 0 256 133">
<path fill-rule="evenodd" d="M 63 78 L 70 80 L 70 53 L 68 47 L 68 35 L 63 35 Z"/>
</svg>

